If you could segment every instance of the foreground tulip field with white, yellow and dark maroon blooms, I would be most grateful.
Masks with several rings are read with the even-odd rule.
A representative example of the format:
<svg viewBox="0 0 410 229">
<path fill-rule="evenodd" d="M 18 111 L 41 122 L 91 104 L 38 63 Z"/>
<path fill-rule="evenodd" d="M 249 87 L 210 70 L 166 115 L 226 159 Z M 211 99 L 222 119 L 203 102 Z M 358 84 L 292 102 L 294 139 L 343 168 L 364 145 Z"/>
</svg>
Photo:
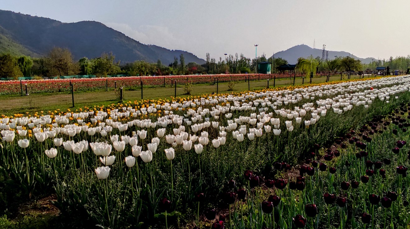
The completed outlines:
<svg viewBox="0 0 410 229">
<path fill-rule="evenodd" d="M 2 115 L 0 213 L 54 196 L 69 228 L 405 229 L 409 110 L 406 75 Z"/>
</svg>

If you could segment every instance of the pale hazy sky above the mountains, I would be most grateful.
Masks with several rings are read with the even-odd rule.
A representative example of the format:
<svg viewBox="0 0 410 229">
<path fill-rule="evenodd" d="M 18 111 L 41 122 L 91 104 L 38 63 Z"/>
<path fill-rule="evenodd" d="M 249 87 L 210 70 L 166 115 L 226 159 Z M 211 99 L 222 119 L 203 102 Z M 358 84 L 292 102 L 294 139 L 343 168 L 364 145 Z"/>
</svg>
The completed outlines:
<svg viewBox="0 0 410 229">
<path fill-rule="evenodd" d="M 0 0 L 0 9 L 95 20 L 146 44 L 271 56 L 294 45 L 381 59 L 410 54 L 409 0 Z"/>
</svg>

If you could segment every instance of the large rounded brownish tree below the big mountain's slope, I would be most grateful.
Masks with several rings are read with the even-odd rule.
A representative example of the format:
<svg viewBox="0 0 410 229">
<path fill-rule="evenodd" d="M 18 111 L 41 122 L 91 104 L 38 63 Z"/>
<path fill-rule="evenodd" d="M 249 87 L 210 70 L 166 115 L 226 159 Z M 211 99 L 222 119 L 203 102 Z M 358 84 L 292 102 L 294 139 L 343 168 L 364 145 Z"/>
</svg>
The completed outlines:
<svg viewBox="0 0 410 229">
<path fill-rule="evenodd" d="M 54 47 L 48 54 L 47 62 L 53 75 L 73 75 L 78 73 L 78 65 L 73 62 L 70 50 Z"/>
</svg>

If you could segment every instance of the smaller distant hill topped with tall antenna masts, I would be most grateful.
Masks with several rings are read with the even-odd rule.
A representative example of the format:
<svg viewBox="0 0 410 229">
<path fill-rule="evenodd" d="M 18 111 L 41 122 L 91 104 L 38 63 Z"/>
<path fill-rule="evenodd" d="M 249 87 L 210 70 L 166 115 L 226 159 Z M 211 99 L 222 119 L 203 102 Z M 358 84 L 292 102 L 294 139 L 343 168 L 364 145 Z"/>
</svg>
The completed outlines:
<svg viewBox="0 0 410 229">
<path fill-rule="evenodd" d="M 326 51 L 328 51 L 328 50 L 326 50 Z M 351 57 L 353 57 L 357 60 L 362 61 L 362 63 L 366 63 L 366 64 L 371 63 L 372 59 L 376 60 L 376 58 L 371 58 L 371 57 L 359 58 L 357 56 L 352 55 L 351 53 L 343 52 L 343 51 L 328 51 L 328 52 L 329 52 L 328 58 L 330 60 L 334 59 L 335 56 L 341 56 L 341 57 L 351 56 Z M 274 54 L 275 58 L 280 57 L 282 59 L 285 59 L 289 62 L 289 64 L 296 64 L 298 62 L 299 57 L 307 58 L 311 55 L 314 58 L 317 57 L 317 56 L 322 57 L 322 49 L 313 49 L 313 48 L 311 48 L 307 45 L 296 45 L 296 46 L 294 46 L 290 49 L 287 49 L 285 51 L 280 51 L 280 52 L 277 52 L 277 53 Z"/>
</svg>

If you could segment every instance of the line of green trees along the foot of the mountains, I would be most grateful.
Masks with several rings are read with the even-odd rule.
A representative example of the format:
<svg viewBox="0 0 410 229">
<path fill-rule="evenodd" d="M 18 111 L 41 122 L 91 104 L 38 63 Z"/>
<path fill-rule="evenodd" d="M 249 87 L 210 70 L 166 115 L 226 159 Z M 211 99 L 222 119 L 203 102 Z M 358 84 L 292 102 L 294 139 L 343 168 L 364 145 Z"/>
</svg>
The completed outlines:
<svg viewBox="0 0 410 229">
<path fill-rule="evenodd" d="M 183 54 L 179 59 L 175 56 L 174 61 L 164 65 L 160 60 L 157 63 L 146 61 L 134 61 L 132 63 L 121 64 L 116 61 L 112 53 L 102 54 L 100 57 L 89 59 L 80 58 L 75 61 L 70 50 L 55 47 L 41 58 L 30 56 L 13 56 L 9 53 L 0 54 L 0 78 L 14 78 L 34 76 L 38 78 L 50 76 L 69 75 L 96 75 L 98 77 L 108 75 L 184 75 L 184 74 L 238 74 L 256 72 L 256 65 L 262 61 L 272 63 L 272 73 L 278 73 L 276 67 L 287 64 L 282 58 L 266 58 L 262 55 L 257 58 L 246 58 L 243 54 L 225 55 L 225 60 L 219 57 L 216 61 L 211 58 L 210 53 L 206 54 L 205 63 L 199 65 L 194 62 L 185 63 Z M 314 76 L 319 72 L 352 72 L 363 71 L 374 72 L 376 67 L 389 66 L 392 70 L 406 71 L 410 66 L 410 56 L 390 57 L 389 60 L 376 60 L 369 64 L 363 64 L 352 57 L 337 57 L 333 60 L 323 61 L 319 56 L 313 58 L 298 58 L 296 70 L 307 76 Z"/>
</svg>

